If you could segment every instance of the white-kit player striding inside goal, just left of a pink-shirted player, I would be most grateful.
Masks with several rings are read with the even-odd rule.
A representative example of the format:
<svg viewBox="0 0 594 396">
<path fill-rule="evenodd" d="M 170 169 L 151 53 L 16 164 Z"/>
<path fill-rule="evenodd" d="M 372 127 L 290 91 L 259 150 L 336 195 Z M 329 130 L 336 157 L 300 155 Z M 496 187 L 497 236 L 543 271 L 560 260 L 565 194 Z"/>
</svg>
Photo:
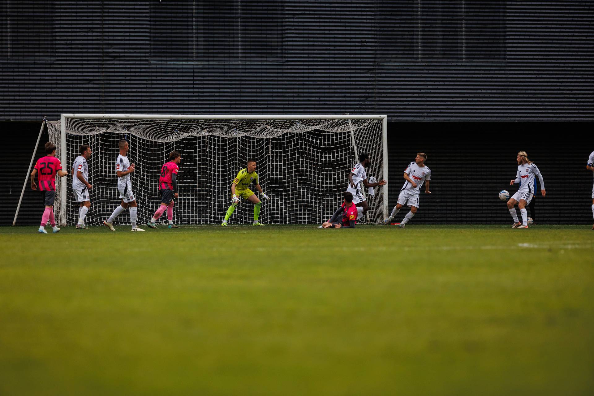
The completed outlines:
<svg viewBox="0 0 594 396">
<path fill-rule="evenodd" d="M 119 205 L 113 211 L 112 215 L 109 216 L 108 220 L 103 221 L 103 224 L 109 227 L 110 230 L 115 231 L 113 228 L 113 220 L 119 216 L 124 210 L 130 207 L 130 223 L 132 224 L 132 231 L 144 231 L 136 225 L 137 218 L 137 204 L 134 193 L 132 193 L 132 182 L 130 173 L 134 172 L 135 166 L 128 160 L 128 142 L 124 139 L 119 141 L 119 156 L 115 161 L 115 172 L 118 175 L 118 191 L 119 198 L 121 199 L 121 205 Z"/>
</svg>

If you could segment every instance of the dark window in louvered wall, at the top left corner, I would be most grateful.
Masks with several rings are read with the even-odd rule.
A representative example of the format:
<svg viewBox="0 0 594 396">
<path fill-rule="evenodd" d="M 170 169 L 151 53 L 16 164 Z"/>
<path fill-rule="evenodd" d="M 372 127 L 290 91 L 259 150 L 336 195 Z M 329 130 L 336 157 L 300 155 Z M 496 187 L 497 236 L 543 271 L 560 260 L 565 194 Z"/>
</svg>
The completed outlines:
<svg viewBox="0 0 594 396">
<path fill-rule="evenodd" d="M 0 59 L 55 58 L 55 2 L 6 0 L 0 3 Z"/>
</svg>

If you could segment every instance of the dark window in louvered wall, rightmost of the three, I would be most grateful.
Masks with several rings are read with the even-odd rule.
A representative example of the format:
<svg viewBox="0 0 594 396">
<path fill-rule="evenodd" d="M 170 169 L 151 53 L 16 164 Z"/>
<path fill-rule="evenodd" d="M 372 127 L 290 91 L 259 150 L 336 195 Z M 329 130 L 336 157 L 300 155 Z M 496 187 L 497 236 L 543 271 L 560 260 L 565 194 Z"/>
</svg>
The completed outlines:
<svg viewBox="0 0 594 396">
<path fill-rule="evenodd" d="M 380 61 L 505 57 L 505 1 L 378 0 L 377 4 Z"/>
</svg>

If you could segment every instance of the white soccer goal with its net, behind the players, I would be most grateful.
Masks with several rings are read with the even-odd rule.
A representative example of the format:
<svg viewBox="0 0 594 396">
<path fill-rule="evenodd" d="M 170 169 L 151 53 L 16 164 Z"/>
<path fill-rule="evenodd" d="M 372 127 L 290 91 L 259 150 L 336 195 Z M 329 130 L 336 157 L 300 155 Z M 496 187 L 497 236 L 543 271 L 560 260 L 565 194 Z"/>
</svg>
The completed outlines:
<svg viewBox="0 0 594 396">
<path fill-rule="evenodd" d="M 368 153 L 367 176 L 387 179 L 386 115 L 108 115 L 62 114 L 48 121 L 49 137 L 62 166 L 72 172 L 78 147 L 88 144 L 90 225 L 103 224 L 119 205 L 115 161 L 118 142 L 129 142 L 128 158 L 136 165 L 132 189 L 138 202 L 138 223 L 146 223 L 159 205 L 158 179 L 170 151 L 182 154 L 177 224 L 217 224 L 230 204 L 230 185 L 250 159 L 257 161 L 258 181 L 271 198 L 263 202 L 265 224 L 316 224 L 339 207 L 348 174 L 358 155 Z M 78 204 L 72 176 L 61 179 L 55 202 L 56 220 L 75 224 Z M 257 194 L 255 188 L 252 189 Z M 369 211 L 364 221 L 387 216 L 387 186 L 364 192 Z M 253 205 L 241 200 L 230 224 L 252 221 Z M 119 221 L 119 223 L 118 223 Z M 125 224 L 120 216 L 116 224 Z"/>
</svg>

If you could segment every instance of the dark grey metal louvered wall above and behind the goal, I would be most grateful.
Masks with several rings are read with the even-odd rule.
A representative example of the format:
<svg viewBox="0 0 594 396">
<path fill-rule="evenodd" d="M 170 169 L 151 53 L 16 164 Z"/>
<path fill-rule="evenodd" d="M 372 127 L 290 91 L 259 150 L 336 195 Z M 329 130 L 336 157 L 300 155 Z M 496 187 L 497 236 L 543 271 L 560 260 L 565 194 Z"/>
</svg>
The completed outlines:
<svg viewBox="0 0 594 396">
<path fill-rule="evenodd" d="M 0 119 L 593 121 L 591 1 L 0 2 Z"/>
</svg>

